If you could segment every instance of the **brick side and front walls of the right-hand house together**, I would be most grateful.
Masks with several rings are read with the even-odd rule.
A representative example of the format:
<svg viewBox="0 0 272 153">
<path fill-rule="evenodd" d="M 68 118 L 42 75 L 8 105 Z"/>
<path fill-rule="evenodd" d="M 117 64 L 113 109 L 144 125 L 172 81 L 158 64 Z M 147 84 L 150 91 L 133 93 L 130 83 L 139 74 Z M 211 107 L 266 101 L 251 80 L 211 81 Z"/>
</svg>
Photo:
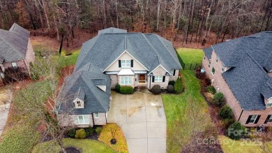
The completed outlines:
<svg viewBox="0 0 272 153">
<path fill-rule="evenodd" d="M 208 59 L 206 56 L 202 61 L 202 66 L 205 68 L 206 75 L 210 78 L 213 87 L 216 88 L 216 92 L 222 92 L 225 96 L 225 101 L 227 105 L 232 108 L 234 112 L 234 119 L 241 122 L 244 126 L 259 126 L 264 124 L 266 117 L 272 115 L 272 108 L 266 108 L 266 110 L 243 110 L 241 105 L 235 98 L 232 90 L 229 88 L 225 79 L 222 77 L 222 61 L 218 59 L 216 62 L 217 55 L 216 52 L 212 52 L 211 59 Z M 209 61 L 211 64 L 209 66 Z M 212 68 L 215 69 L 215 73 L 212 73 Z M 225 68 L 227 71 L 229 68 Z M 249 115 L 261 115 L 257 124 L 245 124 L 248 120 Z M 264 126 L 272 126 L 271 123 L 264 124 Z"/>
</svg>

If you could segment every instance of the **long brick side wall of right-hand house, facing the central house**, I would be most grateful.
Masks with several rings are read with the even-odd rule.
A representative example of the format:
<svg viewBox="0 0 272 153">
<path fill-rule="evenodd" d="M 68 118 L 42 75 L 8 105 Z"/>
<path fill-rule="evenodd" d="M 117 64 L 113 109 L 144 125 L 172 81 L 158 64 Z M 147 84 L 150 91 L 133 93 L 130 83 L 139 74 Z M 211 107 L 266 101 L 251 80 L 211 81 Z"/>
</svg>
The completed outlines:
<svg viewBox="0 0 272 153">
<path fill-rule="evenodd" d="M 225 96 L 226 103 L 232 108 L 234 112 L 234 119 L 238 120 L 241 115 L 242 108 L 240 104 L 237 102 L 232 90 L 229 89 L 229 86 L 225 82 L 225 79 L 222 77 L 222 62 L 218 60 L 216 63 L 216 53 L 213 52 L 211 55 L 211 66 L 209 65 L 209 59 L 206 57 L 205 60 L 202 61 L 202 66 L 205 68 L 206 74 L 209 76 L 211 80 L 214 80 L 213 87 L 217 89 L 219 88 L 219 92 L 222 92 Z M 212 68 L 215 68 L 216 73 L 213 75 L 211 73 Z"/>
</svg>

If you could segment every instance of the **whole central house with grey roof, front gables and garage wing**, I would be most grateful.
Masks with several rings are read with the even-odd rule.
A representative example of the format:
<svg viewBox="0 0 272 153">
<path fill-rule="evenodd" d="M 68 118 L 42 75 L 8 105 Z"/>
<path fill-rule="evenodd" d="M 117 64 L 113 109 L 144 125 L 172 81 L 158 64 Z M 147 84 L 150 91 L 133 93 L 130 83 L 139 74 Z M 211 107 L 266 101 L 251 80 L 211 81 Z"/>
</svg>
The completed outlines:
<svg viewBox="0 0 272 153">
<path fill-rule="evenodd" d="M 116 28 L 100 30 L 82 45 L 75 70 L 59 94 L 58 118 L 63 126 L 106 124 L 111 88 L 117 84 L 167 88 L 180 69 L 173 45 L 165 38 Z"/>
</svg>

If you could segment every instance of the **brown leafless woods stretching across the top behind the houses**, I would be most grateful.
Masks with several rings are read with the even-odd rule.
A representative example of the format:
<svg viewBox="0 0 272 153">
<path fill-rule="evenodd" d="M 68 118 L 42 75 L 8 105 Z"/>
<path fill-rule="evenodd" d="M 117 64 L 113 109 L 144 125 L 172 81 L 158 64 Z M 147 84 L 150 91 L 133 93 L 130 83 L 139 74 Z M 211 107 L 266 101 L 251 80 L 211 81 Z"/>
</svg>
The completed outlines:
<svg viewBox="0 0 272 153">
<path fill-rule="evenodd" d="M 156 32 L 180 43 L 219 43 L 272 31 L 272 0 L 0 0 L 0 28 L 13 22 L 73 45 L 78 31 Z M 37 30 L 38 29 L 38 30 Z"/>
</svg>

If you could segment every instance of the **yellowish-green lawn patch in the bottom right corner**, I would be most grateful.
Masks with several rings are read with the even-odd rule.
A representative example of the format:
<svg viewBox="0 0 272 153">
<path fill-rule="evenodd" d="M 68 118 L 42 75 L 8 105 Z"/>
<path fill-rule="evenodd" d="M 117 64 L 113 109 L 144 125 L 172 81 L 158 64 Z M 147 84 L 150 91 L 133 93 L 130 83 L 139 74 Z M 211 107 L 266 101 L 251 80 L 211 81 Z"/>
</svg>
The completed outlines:
<svg viewBox="0 0 272 153">
<path fill-rule="evenodd" d="M 262 143 L 254 143 L 248 140 L 232 140 L 227 136 L 219 136 L 222 150 L 225 153 L 262 153 Z M 272 152 L 272 142 L 266 144 L 266 152 Z"/>
</svg>

